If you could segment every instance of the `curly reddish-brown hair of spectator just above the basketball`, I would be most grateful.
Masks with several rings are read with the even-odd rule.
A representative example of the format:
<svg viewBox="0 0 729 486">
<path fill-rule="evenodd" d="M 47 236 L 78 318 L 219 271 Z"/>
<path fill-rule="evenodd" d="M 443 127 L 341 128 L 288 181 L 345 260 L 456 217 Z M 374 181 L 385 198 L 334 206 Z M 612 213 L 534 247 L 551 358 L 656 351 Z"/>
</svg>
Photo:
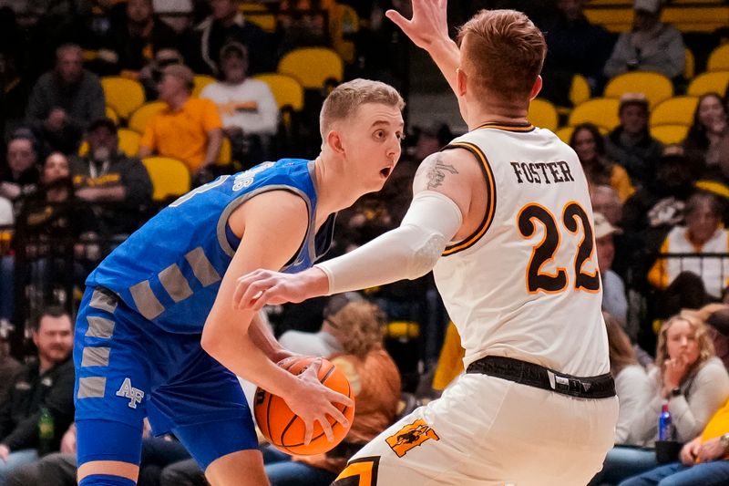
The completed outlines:
<svg viewBox="0 0 729 486">
<path fill-rule="evenodd" d="M 382 348 L 385 313 L 379 306 L 365 300 L 350 302 L 327 320 L 345 354 L 364 359 L 370 351 Z"/>
</svg>

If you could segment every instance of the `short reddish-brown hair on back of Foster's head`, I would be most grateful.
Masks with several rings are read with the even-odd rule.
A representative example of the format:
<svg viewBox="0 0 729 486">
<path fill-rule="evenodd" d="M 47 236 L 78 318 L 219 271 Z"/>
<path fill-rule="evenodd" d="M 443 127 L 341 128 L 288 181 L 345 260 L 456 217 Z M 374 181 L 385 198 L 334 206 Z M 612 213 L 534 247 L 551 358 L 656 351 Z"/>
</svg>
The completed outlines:
<svg viewBox="0 0 729 486">
<path fill-rule="evenodd" d="M 528 102 L 547 54 L 547 42 L 528 16 L 516 10 L 481 10 L 460 27 L 457 41 L 461 68 L 477 91 Z"/>
</svg>

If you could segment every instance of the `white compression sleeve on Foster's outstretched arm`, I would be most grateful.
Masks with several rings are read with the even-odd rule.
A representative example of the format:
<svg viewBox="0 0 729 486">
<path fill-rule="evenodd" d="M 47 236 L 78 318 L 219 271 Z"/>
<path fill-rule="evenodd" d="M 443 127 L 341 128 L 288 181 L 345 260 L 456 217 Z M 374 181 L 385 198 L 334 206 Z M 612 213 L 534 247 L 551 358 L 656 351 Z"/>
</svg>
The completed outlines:
<svg viewBox="0 0 729 486">
<path fill-rule="evenodd" d="M 315 266 L 329 279 L 329 295 L 416 279 L 435 266 L 462 222 L 456 202 L 440 192 L 421 191 L 399 228 Z"/>
</svg>

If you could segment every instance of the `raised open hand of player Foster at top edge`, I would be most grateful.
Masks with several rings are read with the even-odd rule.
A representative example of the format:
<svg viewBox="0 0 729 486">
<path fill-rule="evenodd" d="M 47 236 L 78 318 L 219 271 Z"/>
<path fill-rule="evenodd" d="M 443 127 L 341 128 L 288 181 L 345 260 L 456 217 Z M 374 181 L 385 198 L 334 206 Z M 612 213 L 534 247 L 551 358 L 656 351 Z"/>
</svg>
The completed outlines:
<svg viewBox="0 0 729 486">
<path fill-rule="evenodd" d="M 417 47 L 428 50 L 433 43 L 449 38 L 447 5 L 447 0 L 413 0 L 413 18 L 410 20 L 396 10 L 388 10 L 385 16 Z"/>
</svg>

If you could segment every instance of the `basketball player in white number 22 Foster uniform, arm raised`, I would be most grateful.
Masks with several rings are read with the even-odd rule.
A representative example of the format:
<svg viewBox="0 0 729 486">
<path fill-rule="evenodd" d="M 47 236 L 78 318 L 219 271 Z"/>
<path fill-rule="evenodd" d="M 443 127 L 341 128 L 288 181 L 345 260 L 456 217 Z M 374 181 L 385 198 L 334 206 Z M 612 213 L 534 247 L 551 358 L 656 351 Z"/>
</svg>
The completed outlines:
<svg viewBox="0 0 729 486">
<path fill-rule="evenodd" d="M 532 127 L 546 45 L 515 11 L 447 36 L 446 1 L 387 16 L 423 47 L 468 133 L 423 161 L 402 225 L 301 274 L 239 279 L 242 307 L 300 302 L 433 269 L 467 373 L 364 446 L 335 485 L 584 485 L 613 442 L 590 196 L 577 155 Z"/>
</svg>

